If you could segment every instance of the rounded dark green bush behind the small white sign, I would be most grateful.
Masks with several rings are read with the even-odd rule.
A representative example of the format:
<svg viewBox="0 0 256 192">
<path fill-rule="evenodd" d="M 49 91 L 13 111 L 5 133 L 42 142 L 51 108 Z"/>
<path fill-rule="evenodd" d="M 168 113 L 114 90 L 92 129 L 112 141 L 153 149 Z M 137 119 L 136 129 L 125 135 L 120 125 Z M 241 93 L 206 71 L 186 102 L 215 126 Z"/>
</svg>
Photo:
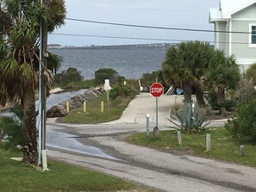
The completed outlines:
<svg viewBox="0 0 256 192">
<path fill-rule="evenodd" d="M 118 82 L 118 73 L 109 68 L 99 69 L 95 71 L 95 82 L 97 84 L 104 84 L 105 79 L 109 79 L 110 84 L 116 84 Z"/>
</svg>

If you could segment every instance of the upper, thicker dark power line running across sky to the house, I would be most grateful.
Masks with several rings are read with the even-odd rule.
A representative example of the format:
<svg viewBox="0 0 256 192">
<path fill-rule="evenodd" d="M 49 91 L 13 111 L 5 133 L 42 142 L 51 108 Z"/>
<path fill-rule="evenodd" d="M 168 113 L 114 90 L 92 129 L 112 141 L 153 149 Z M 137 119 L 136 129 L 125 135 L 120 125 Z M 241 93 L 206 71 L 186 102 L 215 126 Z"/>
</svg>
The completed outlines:
<svg viewBox="0 0 256 192">
<path fill-rule="evenodd" d="M 190 32 L 206 32 L 206 33 L 225 33 L 225 34 L 252 34 L 249 32 L 239 32 L 239 31 L 216 31 L 216 30 L 197 29 L 197 28 L 167 28 L 167 27 L 147 26 L 147 25 L 126 24 L 126 23 L 118 23 L 118 22 L 98 22 L 98 21 L 73 19 L 73 18 L 66 18 L 66 20 L 74 21 L 74 22 L 90 22 L 90 23 L 97 23 L 97 24 L 104 24 L 104 25 L 115 25 L 115 26 L 130 27 L 130 28 L 153 28 L 153 29 L 163 29 L 163 30 L 178 30 L 178 31 L 190 31 Z"/>
</svg>

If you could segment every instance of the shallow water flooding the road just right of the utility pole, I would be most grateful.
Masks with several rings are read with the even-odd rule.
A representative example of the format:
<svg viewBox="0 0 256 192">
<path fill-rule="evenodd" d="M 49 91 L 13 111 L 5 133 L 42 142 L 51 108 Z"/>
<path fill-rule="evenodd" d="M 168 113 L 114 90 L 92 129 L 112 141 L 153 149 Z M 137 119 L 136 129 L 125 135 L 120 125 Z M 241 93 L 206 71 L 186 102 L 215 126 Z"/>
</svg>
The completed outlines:
<svg viewBox="0 0 256 192">
<path fill-rule="evenodd" d="M 111 157 L 108 154 L 102 152 L 95 146 L 84 146 L 75 137 L 69 133 L 62 133 L 54 131 L 54 126 L 47 126 L 47 146 L 63 149 L 70 152 L 78 152 L 86 155 L 97 156 L 100 158 L 109 158 L 118 160 L 117 158 Z"/>
</svg>

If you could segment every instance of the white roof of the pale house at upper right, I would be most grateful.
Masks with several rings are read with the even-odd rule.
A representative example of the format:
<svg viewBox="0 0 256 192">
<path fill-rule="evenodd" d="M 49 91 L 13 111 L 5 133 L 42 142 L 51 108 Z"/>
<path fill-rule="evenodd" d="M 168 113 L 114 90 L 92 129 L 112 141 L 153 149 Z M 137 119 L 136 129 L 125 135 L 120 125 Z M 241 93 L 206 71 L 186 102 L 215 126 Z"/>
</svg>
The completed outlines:
<svg viewBox="0 0 256 192">
<path fill-rule="evenodd" d="M 231 15 L 246 9 L 256 0 L 220 0 L 219 8 L 209 9 L 209 22 L 228 20 Z"/>
</svg>

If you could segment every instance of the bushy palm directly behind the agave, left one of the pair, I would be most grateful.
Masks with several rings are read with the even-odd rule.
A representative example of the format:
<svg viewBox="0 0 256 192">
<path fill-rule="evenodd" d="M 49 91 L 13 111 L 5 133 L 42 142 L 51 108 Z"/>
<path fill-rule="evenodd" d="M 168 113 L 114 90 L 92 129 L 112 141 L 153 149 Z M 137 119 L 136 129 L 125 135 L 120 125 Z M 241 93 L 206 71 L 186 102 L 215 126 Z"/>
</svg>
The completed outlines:
<svg viewBox="0 0 256 192">
<path fill-rule="evenodd" d="M 184 89 L 184 102 L 191 102 L 192 90 L 195 89 L 197 102 L 204 105 L 200 80 L 211 53 L 209 44 L 199 41 L 182 42 L 167 50 L 162 64 L 163 77 L 166 84 Z"/>
</svg>

